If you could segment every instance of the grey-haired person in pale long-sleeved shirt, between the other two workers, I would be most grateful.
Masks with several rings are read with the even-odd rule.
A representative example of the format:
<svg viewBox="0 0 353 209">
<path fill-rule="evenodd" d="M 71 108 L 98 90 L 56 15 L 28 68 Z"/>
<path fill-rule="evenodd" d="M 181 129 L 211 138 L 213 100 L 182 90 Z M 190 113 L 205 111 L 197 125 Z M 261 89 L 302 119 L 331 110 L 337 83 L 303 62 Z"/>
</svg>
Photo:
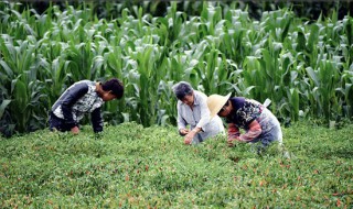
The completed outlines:
<svg viewBox="0 0 353 209">
<path fill-rule="evenodd" d="M 210 117 L 207 96 L 194 90 L 185 81 L 175 84 L 173 91 L 178 98 L 178 130 L 180 135 L 184 136 L 185 144 L 197 144 L 207 138 L 224 133 L 221 118 Z"/>
</svg>

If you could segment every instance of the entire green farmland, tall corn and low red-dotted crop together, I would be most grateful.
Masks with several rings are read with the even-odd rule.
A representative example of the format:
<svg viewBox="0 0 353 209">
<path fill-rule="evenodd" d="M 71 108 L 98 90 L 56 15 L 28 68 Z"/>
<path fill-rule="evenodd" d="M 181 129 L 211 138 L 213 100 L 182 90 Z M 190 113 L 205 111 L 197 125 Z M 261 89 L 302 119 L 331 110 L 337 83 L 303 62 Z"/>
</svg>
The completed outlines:
<svg viewBox="0 0 353 209">
<path fill-rule="evenodd" d="M 308 19 L 284 7 L 255 19 L 234 2 L 196 1 L 154 15 L 158 4 L 145 6 L 40 13 L 0 1 L 0 208 L 353 207 L 349 13 Z M 125 96 L 105 103 L 101 134 L 88 118 L 78 135 L 47 130 L 68 86 L 110 77 Z M 289 157 L 276 144 L 261 155 L 231 148 L 225 136 L 184 145 L 180 80 L 269 99 Z"/>
</svg>

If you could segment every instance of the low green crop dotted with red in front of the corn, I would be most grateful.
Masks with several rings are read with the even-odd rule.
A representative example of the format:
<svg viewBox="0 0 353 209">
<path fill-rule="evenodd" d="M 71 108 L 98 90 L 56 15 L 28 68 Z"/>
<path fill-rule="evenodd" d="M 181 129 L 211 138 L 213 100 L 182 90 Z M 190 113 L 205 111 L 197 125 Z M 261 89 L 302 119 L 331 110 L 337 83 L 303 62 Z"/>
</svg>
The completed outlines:
<svg viewBox="0 0 353 209">
<path fill-rule="evenodd" d="M 284 158 L 222 138 L 185 146 L 174 127 L 42 130 L 0 140 L 0 208 L 351 208 L 352 135 L 295 123 Z"/>
</svg>

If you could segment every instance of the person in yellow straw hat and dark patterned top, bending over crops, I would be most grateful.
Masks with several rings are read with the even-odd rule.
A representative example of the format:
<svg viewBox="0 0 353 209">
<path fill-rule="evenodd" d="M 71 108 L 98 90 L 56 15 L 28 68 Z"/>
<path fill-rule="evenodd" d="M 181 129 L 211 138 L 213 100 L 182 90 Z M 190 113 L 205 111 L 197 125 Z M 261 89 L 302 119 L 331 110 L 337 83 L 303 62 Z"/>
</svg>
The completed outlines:
<svg viewBox="0 0 353 209">
<path fill-rule="evenodd" d="M 260 102 L 244 97 L 211 95 L 207 98 L 211 117 L 226 118 L 228 123 L 227 143 L 234 142 L 261 142 L 257 152 L 266 148 L 277 141 L 282 144 L 282 131 L 277 118 Z M 239 129 L 245 132 L 240 133 Z"/>
</svg>

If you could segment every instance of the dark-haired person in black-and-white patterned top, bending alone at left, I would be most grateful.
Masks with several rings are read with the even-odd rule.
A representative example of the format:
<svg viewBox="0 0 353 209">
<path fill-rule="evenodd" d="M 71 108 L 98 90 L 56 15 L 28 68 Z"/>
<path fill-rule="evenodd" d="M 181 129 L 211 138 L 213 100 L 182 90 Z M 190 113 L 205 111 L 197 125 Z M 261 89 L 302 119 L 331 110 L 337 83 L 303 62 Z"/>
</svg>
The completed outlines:
<svg viewBox="0 0 353 209">
<path fill-rule="evenodd" d="M 103 131 L 100 107 L 105 101 L 120 99 L 124 86 L 117 78 L 105 82 L 82 80 L 72 85 L 56 100 L 50 112 L 50 130 L 79 132 L 78 122 L 85 113 L 90 113 L 95 133 Z"/>
</svg>

